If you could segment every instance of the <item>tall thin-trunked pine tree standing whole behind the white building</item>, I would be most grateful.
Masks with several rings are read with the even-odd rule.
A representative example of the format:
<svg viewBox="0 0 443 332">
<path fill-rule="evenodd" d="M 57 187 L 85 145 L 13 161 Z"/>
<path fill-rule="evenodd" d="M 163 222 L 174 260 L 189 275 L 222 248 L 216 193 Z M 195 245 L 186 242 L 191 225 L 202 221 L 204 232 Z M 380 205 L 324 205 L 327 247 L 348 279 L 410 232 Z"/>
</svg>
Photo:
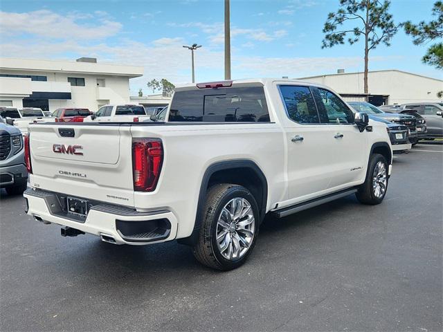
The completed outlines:
<svg viewBox="0 0 443 332">
<path fill-rule="evenodd" d="M 390 46 L 392 37 L 397 33 L 392 15 L 389 13 L 390 1 L 379 0 L 340 0 L 337 12 L 329 12 L 323 28 L 325 38 L 322 48 L 338 44 L 365 41 L 364 90 L 368 93 L 368 63 L 370 50 L 379 44 Z M 352 27 L 352 23 L 357 23 Z M 343 27 L 343 28 L 342 28 Z M 346 39 L 347 38 L 347 39 Z"/>
</svg>

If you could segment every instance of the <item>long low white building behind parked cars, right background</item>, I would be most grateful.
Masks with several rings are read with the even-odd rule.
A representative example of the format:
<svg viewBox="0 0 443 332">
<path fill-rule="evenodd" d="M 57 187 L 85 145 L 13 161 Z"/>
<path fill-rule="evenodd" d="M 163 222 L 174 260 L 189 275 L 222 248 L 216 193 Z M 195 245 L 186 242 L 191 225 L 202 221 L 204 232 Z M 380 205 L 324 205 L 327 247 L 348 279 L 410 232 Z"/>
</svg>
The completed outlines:
<svg viewBox="0 0 443 332">
<path fill-rule="evenodd" d="M 363 73 L 338 73 L 302 77 L 299 80 L 330 86 L 347 101 L 371 104 L 405 104 L 407 102 L 439 102 L 437 93 L 443 90 L 443 80 L 406 71 L 386 70 L 368 73 L 369 93 L 364 93 Z"/>
</svg>

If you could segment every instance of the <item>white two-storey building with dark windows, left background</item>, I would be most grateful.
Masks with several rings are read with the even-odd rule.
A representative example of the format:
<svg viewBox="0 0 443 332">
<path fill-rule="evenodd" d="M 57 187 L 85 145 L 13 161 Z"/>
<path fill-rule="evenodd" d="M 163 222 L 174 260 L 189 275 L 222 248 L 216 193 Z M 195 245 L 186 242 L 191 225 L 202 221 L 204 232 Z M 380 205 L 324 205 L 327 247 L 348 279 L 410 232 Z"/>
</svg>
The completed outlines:
<svg viewBox="0 0 443 332">
<path fill-rule="evenodd" d="M 143 75 L 141 66 L 76 61 L 0 59 L 0 106 L 84 107 L 97 111 L 104 104 L 129 102 L 129 79 Z"/>
</svg>

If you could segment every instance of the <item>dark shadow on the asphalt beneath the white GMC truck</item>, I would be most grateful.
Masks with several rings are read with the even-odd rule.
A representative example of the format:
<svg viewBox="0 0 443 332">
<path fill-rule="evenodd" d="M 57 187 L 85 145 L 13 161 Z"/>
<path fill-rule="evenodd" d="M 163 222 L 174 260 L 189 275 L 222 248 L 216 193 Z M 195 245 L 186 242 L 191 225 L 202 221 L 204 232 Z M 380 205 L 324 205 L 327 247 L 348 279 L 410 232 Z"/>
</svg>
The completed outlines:
<svg viewBox="0 0 443 332">
<path fill-rule="evenodd" d="M 340 210 L 354 208 L 355 205 L 361 206 L 352 196 L 283 219 L 267 216 L 260 227 L 253 255 L 249 257 L 245 266 L 227 274 L 242 273 L 241 271 L 244 273 L 254 264 L 260 264 L 262 259 L 282 255 L 288 243 L 297 243 L 300 235 L 306 236 L 318 232 L 318 228 L 327 224 L 331 214 L 346 213 Z M 76 241 L 76 238 L 67 238 L 66 241 Z M 93 241 L 92 237 L 87 236 L 87 243 L 84 244 L 75 250 L 64 250 L 64 262 L 72 260 L 76 266 L 71 271 L 62 267 L 64 273 L 71 272 L 78 275 L 78 273 L 88 273 L 87 271 L 92 269 L 94 273 L 89 275 L 89 278 L 100 279 L 100 282 L 104 279 L 116 282 L 120 276 L 122 282 L 131 279 L 135 282 L 134 286 L 141 280 L 155 279 L 161 283 L 162 277 L 170 279 L 172 275 L 181 275 L 181 273 L 200 277 L 219 275 L 219 271 L 201 266 L 193 257 L 191 248 L 176 241 L 148 246 L 116 246 L 98 239 Z M 294 256 L 293 259 L 296 260 L 297 257 Z"/>
</svg>

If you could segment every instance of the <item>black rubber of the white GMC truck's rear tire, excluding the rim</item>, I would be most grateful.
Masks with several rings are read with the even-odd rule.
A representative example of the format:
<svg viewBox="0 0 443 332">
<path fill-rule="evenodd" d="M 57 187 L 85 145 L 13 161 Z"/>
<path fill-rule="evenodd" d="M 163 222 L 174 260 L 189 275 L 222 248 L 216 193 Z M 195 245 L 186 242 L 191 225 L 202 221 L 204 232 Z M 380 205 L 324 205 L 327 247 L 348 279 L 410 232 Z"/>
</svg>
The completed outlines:
<svg viewBox="0 0 443 332">
<path fill-rule="evenodd" d="M 251 205 L 254 216 L 253 237 L 244 255 L 238 259 L 226 259 L 217 246 L 217 221 L 225 205 L 237 197 L 246 199 Z M 206 195 L 199 237 L 192 250 L 195 258 L 201 264 L 217 270 L 233 270 L 244 264 L 248 256 L 251 255 L 257 240 L 260 225 L 258 211 L 254 196 L 245 187 L 228 183 L 221 183 L 211 187 Z"/>
</svg>

